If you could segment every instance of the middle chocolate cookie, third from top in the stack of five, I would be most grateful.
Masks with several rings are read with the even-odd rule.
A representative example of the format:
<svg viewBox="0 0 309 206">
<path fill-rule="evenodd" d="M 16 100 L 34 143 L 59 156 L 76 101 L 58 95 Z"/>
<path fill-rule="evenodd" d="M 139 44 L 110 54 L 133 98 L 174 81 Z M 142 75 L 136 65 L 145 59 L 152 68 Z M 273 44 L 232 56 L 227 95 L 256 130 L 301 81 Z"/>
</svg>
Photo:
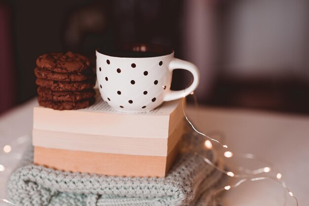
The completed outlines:
<svg viewBox="0 0 309 206">
<path fill-rule="evenodd" d="M 36 84 L 44 88 L 49 88 L 52 91 L 80 91 L 92 88 L 95 85 L 95 80 L 83 82 L 60 82 L 38 78 Z"/>
</svg>

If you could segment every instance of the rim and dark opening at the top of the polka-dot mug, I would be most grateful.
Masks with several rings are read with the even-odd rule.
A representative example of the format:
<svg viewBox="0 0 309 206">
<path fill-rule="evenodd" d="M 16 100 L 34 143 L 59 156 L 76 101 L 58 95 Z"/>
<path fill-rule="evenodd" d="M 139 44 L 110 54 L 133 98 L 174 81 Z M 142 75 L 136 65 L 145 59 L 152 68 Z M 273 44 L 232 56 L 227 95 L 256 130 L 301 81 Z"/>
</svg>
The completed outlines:
<svg viewBox="0 0 309 206">
<path fill-rule="evenodd" d="M 109 48 L 108 46 L 105 47 L 103 50 L 102 47 L 96 48 L 96 52 L 111 56 L 111 57 L 118 57 L 118 58 L 153 58 L 153 57 L 160 57 L 160 56 L 166 56 L 174 53 L 174 49 L 172 49 L 169 46 L 161 45 L 161 44 L 154 44 L 154 43 L 117 43 L 112 46 L 113 48 L 120 49 L 122 51 L 141 51 L 141 52 L 153 52 L 158 53 L 158 56 L 150 56 L 150 57 L 126 57 L 126 56 L 117 56 L 113 54 L 109 54 L 109 51 L 107 51 Z"/>
</svg>

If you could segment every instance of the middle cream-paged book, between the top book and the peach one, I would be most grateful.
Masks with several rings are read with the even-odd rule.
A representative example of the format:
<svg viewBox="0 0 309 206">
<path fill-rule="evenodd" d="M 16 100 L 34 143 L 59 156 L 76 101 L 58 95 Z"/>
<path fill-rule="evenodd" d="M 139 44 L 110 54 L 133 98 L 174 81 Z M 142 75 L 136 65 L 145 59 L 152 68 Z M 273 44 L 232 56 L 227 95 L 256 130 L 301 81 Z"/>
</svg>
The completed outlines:
<svg viewBox="0 0 309 206">
<path fill-rule="evenodd" d="M 168 138 L 120 137 L 33 129 L 34 146 L 85 152 L 166 157 L 184 133 L 182 121 Z"/>
</svg>

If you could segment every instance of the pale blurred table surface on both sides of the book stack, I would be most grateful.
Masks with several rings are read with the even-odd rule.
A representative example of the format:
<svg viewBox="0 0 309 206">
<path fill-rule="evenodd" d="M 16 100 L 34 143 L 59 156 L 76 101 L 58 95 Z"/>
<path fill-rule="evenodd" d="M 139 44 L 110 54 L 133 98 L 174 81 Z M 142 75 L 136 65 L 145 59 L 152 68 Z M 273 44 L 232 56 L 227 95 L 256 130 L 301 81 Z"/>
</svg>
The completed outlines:
<svg viewBox="0 0 309 206">
<path fill-rule="evenodd" d="M 0 116 L 0 148 L 32 130 L 33 99 Z M 189 107 L 188 117 L 202 132 L 220 130 L 226 135 L 229 150 L 253 153 L 272 162 L 282 180 L 298 198 L 300 206 L 309 206 L 309 117 L 248 110 Z M 215 143 L 214 143 L 215 144 Z M 22 144 L 24 147 L 25 144 Z M 16 148 L 12 147 L 12 153 Z M 2 150 L 2 149 L 1 149 Z M 0 164 L 11 168 L 18 160 L 0 151 Z M 5 197 L 9 169 L 0 172 L 0 198 Z M 290 197 L 288 206 L 295 202 Z M 276 182 L 247 182 L 226 192 L 223 206 L 281 206 L 284 191 Z M 4 205 L 4 204 L 0 204 Z M 295 204 L 294 204 L 295 205 Z"/>
</svg>

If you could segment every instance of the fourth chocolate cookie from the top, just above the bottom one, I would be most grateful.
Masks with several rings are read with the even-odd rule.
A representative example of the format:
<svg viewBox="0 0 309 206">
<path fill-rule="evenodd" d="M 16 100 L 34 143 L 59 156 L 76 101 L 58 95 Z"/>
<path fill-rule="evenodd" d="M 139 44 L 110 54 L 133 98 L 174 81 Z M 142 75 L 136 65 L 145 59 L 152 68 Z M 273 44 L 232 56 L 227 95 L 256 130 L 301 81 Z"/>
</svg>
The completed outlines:
<svg viewBox="0 0 309 206">
<path fill-rule="evenodd" d="M 95 96 L 94 89 L 87 89 L 84 91 L 52 91 L 48 88 L 38 87 L 37 89 L 40 100 L 44 101 L 65 101 L 77 102 L 83 99 L 89 99 Z"/>
</svg>

